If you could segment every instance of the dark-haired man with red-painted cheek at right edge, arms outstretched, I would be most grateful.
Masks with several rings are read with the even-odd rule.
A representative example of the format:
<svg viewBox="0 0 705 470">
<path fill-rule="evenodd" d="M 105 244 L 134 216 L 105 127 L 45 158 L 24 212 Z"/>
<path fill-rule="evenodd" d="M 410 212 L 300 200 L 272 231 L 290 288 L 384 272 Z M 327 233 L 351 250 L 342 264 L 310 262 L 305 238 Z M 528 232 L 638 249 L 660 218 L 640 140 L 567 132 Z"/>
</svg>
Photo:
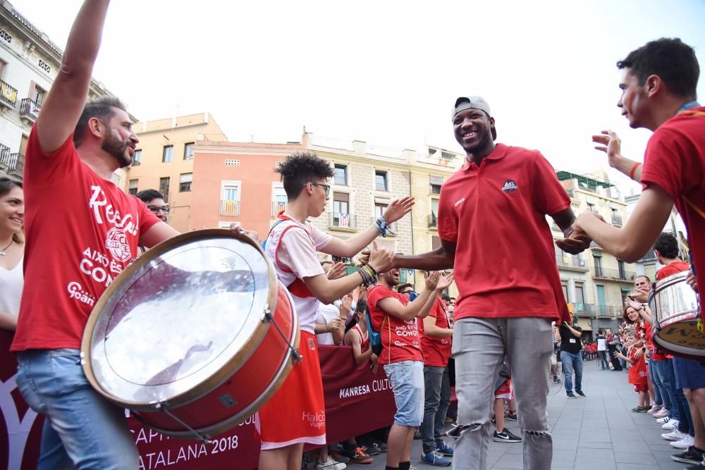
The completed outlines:
<svg viewBox="0 0 705 470">
<path fill-rule="evenodd" d="M 658 39 L 630 52 L 617 63 L 623 70 L 617 106 L 631 128 L 654 132 L 644 164 L 620 154 L 620 139 L 611 131 L 593 136 L 611 166 L 642 183 L 644 190 L 629 221 L 617 228 L 595 214 L 577 218 L 573 236 L 587 235 L 606 252 L 632 263 L 651 248 L 675 205 L 685 223 L 693 269 L 689 284 L 705 285 L 705 107 L 697 99 L 700 67 L 692 47 L 680 39 Z M 560 246 L 572 241 L 559 242 Z M 674 362 L 675 366 L 675 362 Z M 678 371 L 678 368 L 676 368 Z M 705 368 L 676 380 L 689 389 L 698 413 L 705 415 Z M 693 408 L 693 407 L 692 407 Z M 704 450 L 696 433 L 695 445 Z M 702 437 L 702 436 L 701 436 Z"/>
</svg>

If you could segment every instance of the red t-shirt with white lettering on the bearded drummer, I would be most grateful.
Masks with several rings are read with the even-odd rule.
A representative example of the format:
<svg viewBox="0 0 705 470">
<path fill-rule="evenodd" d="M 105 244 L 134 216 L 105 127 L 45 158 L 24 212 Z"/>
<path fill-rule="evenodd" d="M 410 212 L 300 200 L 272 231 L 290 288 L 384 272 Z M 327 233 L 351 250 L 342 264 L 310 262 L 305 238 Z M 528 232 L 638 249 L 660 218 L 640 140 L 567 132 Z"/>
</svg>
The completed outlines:
<svg viewBox="0 0 705 470">
<path fill-rule="evenodd" d="M 78 158 L 73 135 L 46 154 L 32 129 L 25 156 L 25 287 L 12 351 L 80 349 L 97 299 L 159 222 L 136 197 Z"/>
</svg>

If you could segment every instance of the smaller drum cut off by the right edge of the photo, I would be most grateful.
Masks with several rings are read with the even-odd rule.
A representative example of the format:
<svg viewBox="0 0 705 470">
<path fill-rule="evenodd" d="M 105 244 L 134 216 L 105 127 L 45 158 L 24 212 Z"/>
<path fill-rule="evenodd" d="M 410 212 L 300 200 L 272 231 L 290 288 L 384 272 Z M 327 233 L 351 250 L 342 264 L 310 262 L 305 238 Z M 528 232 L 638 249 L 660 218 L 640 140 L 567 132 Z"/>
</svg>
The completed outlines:
<svg viewBox="0 0 705 470">
<path fill-rule="evenodd" d="M 685 282 L 687 271 L 658 280 L 649 293 L 654 317 L 654 343 L 670 354 L 702 359 L 705 335 L 698 329 L 700 304 L 697 293 Z"/>
</svg>

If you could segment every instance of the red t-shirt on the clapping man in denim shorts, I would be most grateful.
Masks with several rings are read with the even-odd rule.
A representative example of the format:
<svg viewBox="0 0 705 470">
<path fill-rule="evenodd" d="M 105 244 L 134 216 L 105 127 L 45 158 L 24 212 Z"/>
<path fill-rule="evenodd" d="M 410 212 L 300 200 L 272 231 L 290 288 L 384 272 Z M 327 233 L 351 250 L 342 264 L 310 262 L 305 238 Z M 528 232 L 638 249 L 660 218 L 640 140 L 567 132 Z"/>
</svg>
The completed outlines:
<svg viewBox="0 0 705 470">
<path fill-rule="evenodd" d="M 387 315 L 378 303 L 381 299 L 393 297 L 406 305 L 409 299 L 384 285 L 376 285 L 367 293 L 367 307 L 372 328 L 379 331 L 382 340 L 382 352 L 379 354 L 379 364 L 394 364 L 401 361 L 423 361 L 419 330 L 416 319 L 402 320 L 396 316 Z"/>
</svg>

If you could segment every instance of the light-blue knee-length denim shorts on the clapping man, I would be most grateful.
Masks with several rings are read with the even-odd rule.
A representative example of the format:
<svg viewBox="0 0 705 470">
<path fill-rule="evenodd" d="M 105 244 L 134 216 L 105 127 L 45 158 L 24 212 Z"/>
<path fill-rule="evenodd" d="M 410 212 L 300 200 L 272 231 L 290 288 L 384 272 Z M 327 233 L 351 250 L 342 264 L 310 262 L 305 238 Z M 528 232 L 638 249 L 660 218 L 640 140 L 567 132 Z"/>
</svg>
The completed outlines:
<svg viewBox="0 0 705 470">
<path fill-rule="evenodd" d="M 401 361 L 385 364 L 384 372 L 394 392 L 398 426 L 421 426 L 424 421 L 424 363 Z"/>
</svg>

